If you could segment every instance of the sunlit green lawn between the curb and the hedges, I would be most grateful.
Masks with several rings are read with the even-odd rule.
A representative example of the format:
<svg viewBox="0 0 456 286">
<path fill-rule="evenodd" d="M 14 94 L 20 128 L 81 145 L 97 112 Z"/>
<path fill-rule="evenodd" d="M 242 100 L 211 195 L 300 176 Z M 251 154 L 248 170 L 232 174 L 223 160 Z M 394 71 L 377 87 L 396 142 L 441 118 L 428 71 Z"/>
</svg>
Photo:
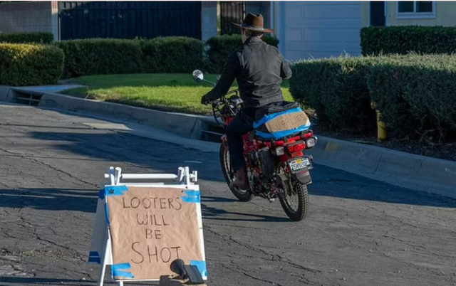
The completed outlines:
<svg viewBox="0 0 456 286">
<path fill-rule="evenodd" d="M 215 75 L 207 75 L 215 80 Z M 189 74 L 130 74 L 89 75 L 73 79 L 73 83 L 88 85 L 64 92 L 67 95 L 123 103 L 157 110 L 210 115 L 209 106 L 201 105 L 201 97 L 211 90 L 210 83 L 195 83 Z M 233 89 L 236 88 L 236 83 Z M 288 82 L 282 84 L 286 100 L 293 100 Z"/>
</svg>

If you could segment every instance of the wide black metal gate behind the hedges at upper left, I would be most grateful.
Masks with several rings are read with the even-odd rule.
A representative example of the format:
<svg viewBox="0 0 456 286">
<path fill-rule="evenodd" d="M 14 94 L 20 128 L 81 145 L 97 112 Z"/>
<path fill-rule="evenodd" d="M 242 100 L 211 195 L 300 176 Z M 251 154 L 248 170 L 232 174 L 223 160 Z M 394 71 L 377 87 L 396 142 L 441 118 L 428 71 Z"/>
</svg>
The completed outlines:
<svg viewBox="0 0 456 286">
<path fill-rule="evenodd" d="M 199 1 L 59 1 L 61 40 L 201 38 Z"/>
</svg>

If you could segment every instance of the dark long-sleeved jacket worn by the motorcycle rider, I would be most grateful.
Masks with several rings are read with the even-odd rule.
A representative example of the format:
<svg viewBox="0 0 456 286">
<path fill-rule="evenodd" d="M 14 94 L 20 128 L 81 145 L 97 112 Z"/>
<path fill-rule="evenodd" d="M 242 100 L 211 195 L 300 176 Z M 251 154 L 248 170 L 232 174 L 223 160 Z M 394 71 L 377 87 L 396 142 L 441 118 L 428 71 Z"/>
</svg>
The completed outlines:
<svg viewBox="0 0 456 286">
<path fill-rule="evenodd" d="M 221 78 L 205 97 L 207 100 L 222 97 L 237 79 L 244 108 L 261 107 L 284 100 L 280 84 L 289 78 L 291 69 L 279 50 L 259 37 L 252 37 L 229 55 Z"/>
</svg>

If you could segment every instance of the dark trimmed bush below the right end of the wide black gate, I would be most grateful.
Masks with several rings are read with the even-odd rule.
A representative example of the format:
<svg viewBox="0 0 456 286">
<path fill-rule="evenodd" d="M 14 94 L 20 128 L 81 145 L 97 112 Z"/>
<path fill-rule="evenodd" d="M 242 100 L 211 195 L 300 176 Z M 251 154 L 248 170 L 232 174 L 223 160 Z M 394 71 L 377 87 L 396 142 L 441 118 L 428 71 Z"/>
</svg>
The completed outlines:
<svg viewBox="0 0 456 286">
<path fill-rule="evenodd" d="M 204 43 L 195 38 L 165 37 L 141 41 L 146 73 L 191 73 L 204 68 Z"/>
</svg>

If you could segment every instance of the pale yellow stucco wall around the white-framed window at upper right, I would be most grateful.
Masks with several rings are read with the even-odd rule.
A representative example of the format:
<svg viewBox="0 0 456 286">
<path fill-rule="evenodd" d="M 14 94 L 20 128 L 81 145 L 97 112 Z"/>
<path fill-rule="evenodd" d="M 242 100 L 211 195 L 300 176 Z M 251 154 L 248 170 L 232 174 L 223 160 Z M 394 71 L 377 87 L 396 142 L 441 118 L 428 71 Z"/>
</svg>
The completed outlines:
<svg viewBox="0 0 456 286">
<path fill-rule="evenodd" d="M 435 18 L 396 18 L 396 1 L 387 1 L 386 24 L 388 26 L 456 26 L 456 1 L 435 1 Z"/>
</svg>

